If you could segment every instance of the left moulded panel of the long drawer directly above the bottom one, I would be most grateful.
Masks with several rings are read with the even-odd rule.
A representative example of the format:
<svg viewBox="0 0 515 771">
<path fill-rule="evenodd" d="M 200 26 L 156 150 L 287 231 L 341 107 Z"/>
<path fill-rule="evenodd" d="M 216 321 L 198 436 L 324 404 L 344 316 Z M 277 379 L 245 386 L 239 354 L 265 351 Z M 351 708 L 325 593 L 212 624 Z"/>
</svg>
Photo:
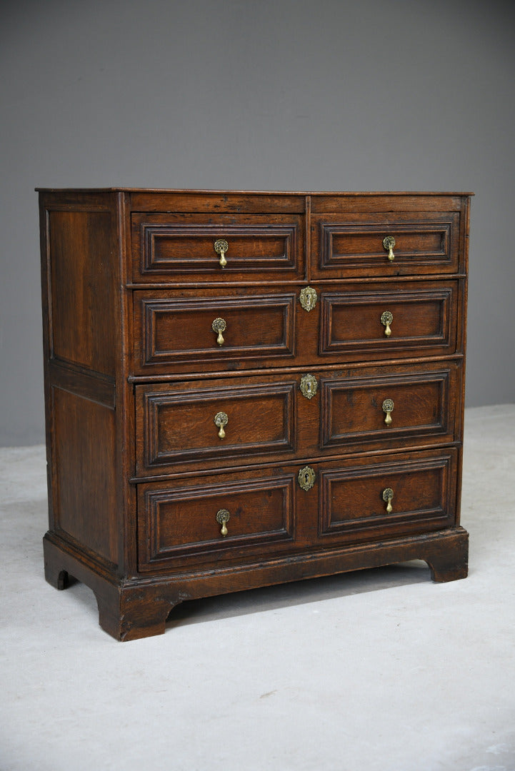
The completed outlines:
<svg viewBox="0 0 515 771">
<path fill-rule="evenodd" d="M 297 389 L 293 376 L 137 386 L 136 473 L 294 453 Z"/>
</svg>

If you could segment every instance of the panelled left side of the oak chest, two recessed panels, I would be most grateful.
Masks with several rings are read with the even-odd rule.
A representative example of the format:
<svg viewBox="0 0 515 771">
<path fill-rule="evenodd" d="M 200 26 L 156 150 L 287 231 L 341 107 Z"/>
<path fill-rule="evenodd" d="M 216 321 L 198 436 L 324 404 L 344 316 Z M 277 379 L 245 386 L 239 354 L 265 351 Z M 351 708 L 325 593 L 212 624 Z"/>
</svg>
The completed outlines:
<svg viewBox="0 0 515 771">
<path fill-rule="evenodd" d="M 49 534 L 112 571 L 119 564 L 112 194 L 40 195 Z M 119 281 L 118 281 L 119 284 Z"/>
</svg>

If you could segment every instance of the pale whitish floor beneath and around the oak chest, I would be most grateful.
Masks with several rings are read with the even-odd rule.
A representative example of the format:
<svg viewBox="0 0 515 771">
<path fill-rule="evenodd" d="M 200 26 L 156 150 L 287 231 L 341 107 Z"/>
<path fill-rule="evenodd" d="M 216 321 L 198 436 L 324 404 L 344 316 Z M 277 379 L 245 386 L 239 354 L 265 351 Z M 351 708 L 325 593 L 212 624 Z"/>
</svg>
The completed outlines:
<svg viewBox="0 0 515 771">
<path fill-rule="evenodd" d="M 470 576 L 183 604 L 117 643 L 42 571 L 42 447 L 0 450 L 1 771 L 514 771 L 515 405 L 466 412 Z"/>
</svg>

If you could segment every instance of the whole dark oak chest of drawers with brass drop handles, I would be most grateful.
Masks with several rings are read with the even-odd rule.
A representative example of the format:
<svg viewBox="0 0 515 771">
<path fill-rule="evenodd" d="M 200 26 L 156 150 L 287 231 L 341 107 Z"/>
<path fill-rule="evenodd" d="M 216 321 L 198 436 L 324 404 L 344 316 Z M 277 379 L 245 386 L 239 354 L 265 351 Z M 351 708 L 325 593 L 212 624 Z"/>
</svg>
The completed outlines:
<svg viewBox="0 0 515 771">
<path fill-rule="evenodd" d="M 100 625 L 459 526 L 470 194 L 39 190 L 45 575 Z"/>
</svg>

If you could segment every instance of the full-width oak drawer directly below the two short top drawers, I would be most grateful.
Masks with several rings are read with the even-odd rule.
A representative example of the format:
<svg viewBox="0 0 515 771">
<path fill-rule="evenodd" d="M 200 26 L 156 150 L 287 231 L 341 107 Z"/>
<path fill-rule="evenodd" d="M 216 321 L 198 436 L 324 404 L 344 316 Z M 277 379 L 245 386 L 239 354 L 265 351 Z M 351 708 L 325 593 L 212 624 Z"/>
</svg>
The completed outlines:
<svg viewBox="0 0 515 771">
<path fill-rule="evenodd" d="M 136 374 L 452 355 L 458 281 L 134 292 Z M 295 359 L 295 361 L 294 361 Z"/>
</svg>

